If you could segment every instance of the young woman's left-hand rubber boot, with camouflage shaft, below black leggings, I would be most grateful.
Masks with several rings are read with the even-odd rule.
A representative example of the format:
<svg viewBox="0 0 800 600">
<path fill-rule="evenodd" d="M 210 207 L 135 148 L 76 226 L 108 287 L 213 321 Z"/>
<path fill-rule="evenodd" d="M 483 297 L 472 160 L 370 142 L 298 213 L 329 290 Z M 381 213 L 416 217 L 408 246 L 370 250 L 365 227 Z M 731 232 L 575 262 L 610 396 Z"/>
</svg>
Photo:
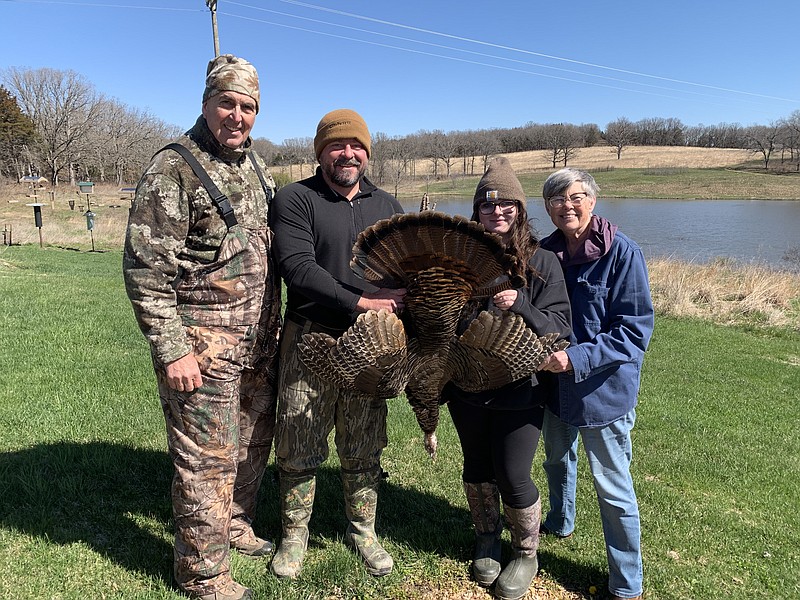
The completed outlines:
<svg viewBox="0 0 800 600">
<path fill-rule="evenodd" d="M 493 483 L 463 483 L 472 523 L 475 525 L 472 575 L 478 585 L 489 587 L 500 575 L 500 534 L 503 531 L 500 492 Z"/>
</svg>

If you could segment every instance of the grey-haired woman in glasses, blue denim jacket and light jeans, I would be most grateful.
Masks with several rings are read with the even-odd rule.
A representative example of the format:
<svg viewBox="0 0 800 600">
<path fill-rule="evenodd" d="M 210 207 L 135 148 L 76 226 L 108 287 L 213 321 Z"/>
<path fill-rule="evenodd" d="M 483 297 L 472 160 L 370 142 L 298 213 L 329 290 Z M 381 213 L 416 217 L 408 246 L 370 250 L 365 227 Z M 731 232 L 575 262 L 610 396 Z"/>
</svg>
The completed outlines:
<svg viewBox="0 0 800 600">
<path fill-rule="evenodd" d="M 578 435 L 600 505 L 608 589 L 614 599 L 640 598 L 639 506 L 631 479 L 631 429 L 642 359 L 653 332 L 653 303 L 639 246 L 593 214 L 599 188 L 577 169 L 544 183 L 547 214 L 558 228 L 541 245 L 555 252 L 572 304 L 570 346 L 544 370 L 558 373 L 558 393 L 542 428 L 550 510 L 543 533 L 564 538 L 575 527 Z"/>
</svg>

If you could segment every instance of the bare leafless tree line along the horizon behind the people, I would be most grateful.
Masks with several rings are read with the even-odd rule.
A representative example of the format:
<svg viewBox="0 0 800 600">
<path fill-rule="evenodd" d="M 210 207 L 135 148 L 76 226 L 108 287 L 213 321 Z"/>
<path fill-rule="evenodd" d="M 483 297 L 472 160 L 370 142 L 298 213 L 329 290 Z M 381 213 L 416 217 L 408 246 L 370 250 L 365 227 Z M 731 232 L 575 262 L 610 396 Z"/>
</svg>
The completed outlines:
<svg viewBox="0 0 800 600">
<path fill-rule="evenodd" d="M 79 180 L 117 185 L 138 180 L 152 155 L 181 128 L 99 94 L 74 71 L 10 68 L 0 85 L 0 177 L 19 181 L 43 176 L 56 186 Z M 254 140 L 272 165 L 288 165 L 289 179 L 310 175 L 316 163 L 313 139 L 274 144 Z M 444 132 L 420 130 L 390 137 L 373 134 L 370 175 L 381 186 L 417 179 L 481 174 L 502 153 L 541 151 L 553 168 L 567 166 L 580 148 L 608 145 L 621 158 L 631 146 L 739 148 L 754 152 L 764 169 L 778 160 L 800 171 L 800 110 L 768 125 L 684 125 L 675 118 L 625 117 L 606 124 L 533 123 L 513 128 Z M 773 163 L 774 164 L 774 163 Z M 296 170 L 296 171 L 295 171 Z"/>
</svg>

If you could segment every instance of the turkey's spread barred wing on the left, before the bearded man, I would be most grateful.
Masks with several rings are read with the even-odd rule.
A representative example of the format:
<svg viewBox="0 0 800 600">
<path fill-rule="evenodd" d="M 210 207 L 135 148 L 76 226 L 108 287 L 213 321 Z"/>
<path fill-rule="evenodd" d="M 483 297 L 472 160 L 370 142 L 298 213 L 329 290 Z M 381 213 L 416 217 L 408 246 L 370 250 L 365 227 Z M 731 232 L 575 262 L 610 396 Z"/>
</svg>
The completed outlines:
<svg viewBox="0 0 800 600">
<path fill-rule="evenodd" d="M 403 323 L 386 310 L 370 310 L 338 340 L 307 333 L 300 360 L 314 374 L 339 387 L 378 398 L 394 398 L 407 383 L 407 348 Z"/>
</svg>

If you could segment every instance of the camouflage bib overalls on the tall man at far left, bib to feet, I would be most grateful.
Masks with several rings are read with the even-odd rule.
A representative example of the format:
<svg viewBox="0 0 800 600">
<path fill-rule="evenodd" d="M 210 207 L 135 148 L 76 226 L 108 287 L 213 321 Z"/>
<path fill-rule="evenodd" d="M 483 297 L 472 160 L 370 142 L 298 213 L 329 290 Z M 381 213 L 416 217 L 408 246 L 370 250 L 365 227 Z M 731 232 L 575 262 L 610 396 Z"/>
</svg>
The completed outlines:
<svg viewBox="0 0 800 600">
<path fill-rule="evenodd" d="M 170 389 L 154 360 L 175 468 L 175 581 L 194 597 L 247 597 L 231 579 L 229 547 L 232 533 L 234 540 L 253 536 L 249 522 L 274 431 L 279 321 L 270 315 L 280 297 L 267 247 L 266 228 L 235 225 L 218 261 L 186 274 L 177 288 L 203 385 Z"/>
</svg>

